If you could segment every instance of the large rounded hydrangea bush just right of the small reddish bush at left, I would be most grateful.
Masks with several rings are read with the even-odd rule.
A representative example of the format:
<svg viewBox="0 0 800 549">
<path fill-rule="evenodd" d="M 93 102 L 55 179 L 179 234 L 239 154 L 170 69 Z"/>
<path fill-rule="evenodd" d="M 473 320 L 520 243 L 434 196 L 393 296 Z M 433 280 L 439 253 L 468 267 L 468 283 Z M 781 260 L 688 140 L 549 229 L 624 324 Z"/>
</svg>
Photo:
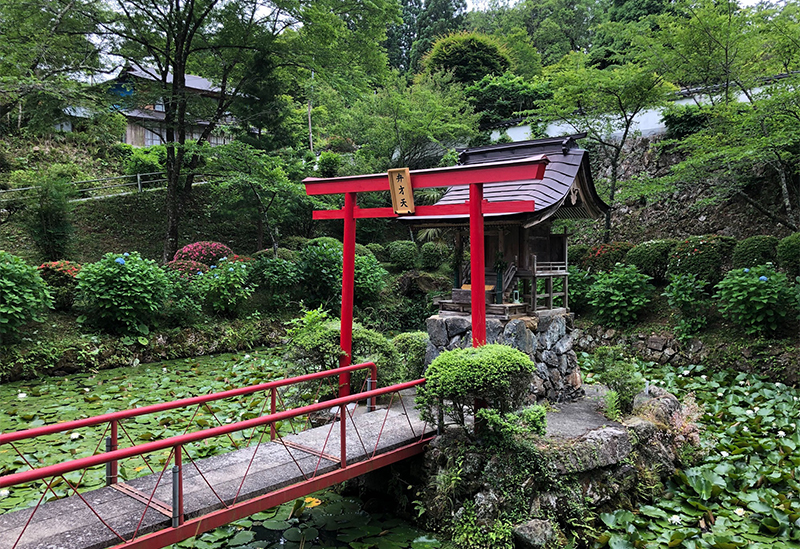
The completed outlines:
<svg viewBox="0 0 800 549">
<path fill-rule="evenodd" d="M 99 328 L 122 334 L 147 335 L 167 297 L 167 275 L 138 252 L 108 253 L 78 274 L 78 296 L 89 320 Z"/>
</svg>

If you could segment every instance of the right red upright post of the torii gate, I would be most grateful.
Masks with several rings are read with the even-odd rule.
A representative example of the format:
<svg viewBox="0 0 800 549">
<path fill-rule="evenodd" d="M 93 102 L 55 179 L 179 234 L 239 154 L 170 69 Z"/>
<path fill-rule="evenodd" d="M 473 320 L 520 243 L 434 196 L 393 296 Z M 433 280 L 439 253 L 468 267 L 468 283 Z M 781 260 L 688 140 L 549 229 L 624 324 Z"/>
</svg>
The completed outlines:
<svg viewBox="0 0 800 549">
<path fill-rule="evenodd" d="M 483 251 L 483 184 L 469 187 L 469 250 L 472 269 L 472 346 L 486 344 L 486 266 Z"/>
</svg>

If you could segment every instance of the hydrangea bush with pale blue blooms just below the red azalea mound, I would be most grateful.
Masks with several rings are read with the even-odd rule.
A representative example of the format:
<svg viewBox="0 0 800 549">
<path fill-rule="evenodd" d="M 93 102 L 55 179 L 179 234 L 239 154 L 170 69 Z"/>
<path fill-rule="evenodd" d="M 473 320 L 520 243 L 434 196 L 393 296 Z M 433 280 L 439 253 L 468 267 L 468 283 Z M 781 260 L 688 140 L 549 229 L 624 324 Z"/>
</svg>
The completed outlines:
<svg viewBox="0 0 800 549">
<path fill-rule="evenodd" d="M 204 275 L 198 275 L 199 285 L 205 305 L 215 313 L 227 317 L 235 317 L 240 307 L 256 289 L 257 284 L 251 281 L 250 267 L 247 262 L 219 260 L 211 265 Z"/>
</svg>

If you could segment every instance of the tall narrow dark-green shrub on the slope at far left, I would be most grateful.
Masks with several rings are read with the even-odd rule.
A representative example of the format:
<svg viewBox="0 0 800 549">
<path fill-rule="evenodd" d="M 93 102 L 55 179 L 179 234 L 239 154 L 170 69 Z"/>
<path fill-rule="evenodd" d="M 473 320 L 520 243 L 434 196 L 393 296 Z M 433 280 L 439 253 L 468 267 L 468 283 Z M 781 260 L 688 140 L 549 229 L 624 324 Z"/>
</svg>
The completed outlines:
<svg viewBox="0 0 800 549">
<path fill-rule="evenodd" d="M 26 225 L 39 252 L 48 261 L 67 256 L 73 233 L 72 204 L 74 187 L 66 177 L 48 170 L 36 185 L 34 204 L 28 208 Z"/>
</svg>

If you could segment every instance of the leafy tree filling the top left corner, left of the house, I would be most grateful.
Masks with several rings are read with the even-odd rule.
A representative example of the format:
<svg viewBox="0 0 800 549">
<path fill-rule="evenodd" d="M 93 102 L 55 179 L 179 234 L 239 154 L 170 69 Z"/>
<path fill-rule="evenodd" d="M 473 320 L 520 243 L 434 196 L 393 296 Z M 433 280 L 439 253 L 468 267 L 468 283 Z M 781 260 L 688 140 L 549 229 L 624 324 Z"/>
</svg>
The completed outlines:
<svg viewBox="0 0 800 549">
<path fill-rule="evenodd" d="M 33 95 L 74 100 L 81 77 L 100 67 L 92 39 L 98 0 L 4 0 L 0 3 L 0 119 Z"/>
</svg>

